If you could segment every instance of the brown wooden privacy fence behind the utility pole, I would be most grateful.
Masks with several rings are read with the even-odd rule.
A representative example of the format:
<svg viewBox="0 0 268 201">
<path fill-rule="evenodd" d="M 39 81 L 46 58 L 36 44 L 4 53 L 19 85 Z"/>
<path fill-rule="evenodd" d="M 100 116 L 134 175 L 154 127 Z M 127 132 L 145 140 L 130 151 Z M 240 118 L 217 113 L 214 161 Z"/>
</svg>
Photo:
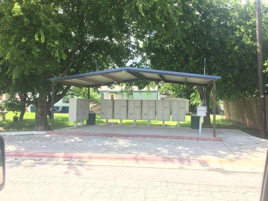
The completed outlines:
<svg viewBox="0 0 268 201">
<path fill-rule="evenodd" d="M 266 131 L 268 132 L 268 95 L 265 95 Z M 240 97 L 224 100 L 224 114 L 227 119 L 259 129 L 259 97 Z"/>
</svg>

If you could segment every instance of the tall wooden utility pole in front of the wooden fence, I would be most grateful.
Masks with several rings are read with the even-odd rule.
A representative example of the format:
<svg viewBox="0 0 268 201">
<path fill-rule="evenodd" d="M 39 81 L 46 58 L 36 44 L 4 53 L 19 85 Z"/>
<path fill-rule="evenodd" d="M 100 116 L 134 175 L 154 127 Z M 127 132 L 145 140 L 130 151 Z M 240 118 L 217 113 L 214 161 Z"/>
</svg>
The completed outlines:
<svg viewBox="0 0 268 201">
<path fill-rule="evenodd" d="M 261 13 L 260 0 L 256 0 L 256 34 L 257 34 L 257 58 L 258 58 L 258 91 L 259 91 L 259 134 L 261 138 L 266 138 L 266 117 L 265 117 L 265 96 L 263 81 L 263 55 L 262 55 L 262 34 L 261 34 Z"/>
</svg>

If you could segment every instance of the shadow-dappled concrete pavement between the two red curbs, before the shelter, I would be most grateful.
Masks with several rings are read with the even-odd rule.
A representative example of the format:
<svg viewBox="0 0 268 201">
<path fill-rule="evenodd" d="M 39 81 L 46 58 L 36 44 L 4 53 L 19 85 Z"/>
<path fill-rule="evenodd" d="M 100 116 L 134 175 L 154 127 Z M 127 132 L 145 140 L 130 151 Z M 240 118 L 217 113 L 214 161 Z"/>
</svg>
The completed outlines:
<svg viewBox="0 0 268 201">
<path fill-rule="evenodd" d="M 35 152 L 42 158 L 45 157 L 45 153 L 50 157 L 61 153 L 76 154 L 76 156 L 89 154 L 81 158 L 83 160 L 100 159 L 101 154 L 106 154 L 108 160 L 115 159 L 119 155 L 124 156 L 126 160 L 146 156 L 147 159 L 159 157 L 159 161 L 168 157 L 174 160 L 184 158 L 206 161 L 210 164 L 208 167 L 213 168 L 233 166 L 236 169 L 240 166 L 243 171 L 262 171 L 268 147 L 267 140 L 237 130 L 228 130 L 222 134 L 222 141 L 80 135 L 19 135 L 4 136 L 4 138 L 7 153 L 17 154 L 10 153 L 13 157 L 19 157 L 20 154 L 24 154 L 24 157 L 33 157 Z M 105 157 L 102 156 L 103 159 Z M 200 162 L 191 164 L 202 166 Z"/>
</svg>

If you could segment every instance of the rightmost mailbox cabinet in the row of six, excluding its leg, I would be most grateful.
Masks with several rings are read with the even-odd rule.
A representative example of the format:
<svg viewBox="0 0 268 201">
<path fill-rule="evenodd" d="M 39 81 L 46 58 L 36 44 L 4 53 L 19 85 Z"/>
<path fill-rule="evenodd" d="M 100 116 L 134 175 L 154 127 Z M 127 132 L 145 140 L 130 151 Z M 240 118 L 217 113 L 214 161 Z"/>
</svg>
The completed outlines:
<svg viewBox="0 0 268 201">
<path fill-rule="evenodd" d="M 171 100 L 172 121 L 185 122 L 185 102 L 180 100 Z"/>
</svg>

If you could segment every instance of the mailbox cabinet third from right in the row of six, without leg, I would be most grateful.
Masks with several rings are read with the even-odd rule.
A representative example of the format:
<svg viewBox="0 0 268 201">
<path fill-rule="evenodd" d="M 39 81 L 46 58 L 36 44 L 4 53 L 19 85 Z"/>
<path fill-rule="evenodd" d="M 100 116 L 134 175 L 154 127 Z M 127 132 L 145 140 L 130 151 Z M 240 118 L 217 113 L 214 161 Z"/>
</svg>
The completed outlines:
<svg viewBox="0 0 268 201">
<path fill-rule="evenodd" d="M 155 120 L 155 100 L 142 100 L 141 119 L 142 120 Z"/>
</svg>

